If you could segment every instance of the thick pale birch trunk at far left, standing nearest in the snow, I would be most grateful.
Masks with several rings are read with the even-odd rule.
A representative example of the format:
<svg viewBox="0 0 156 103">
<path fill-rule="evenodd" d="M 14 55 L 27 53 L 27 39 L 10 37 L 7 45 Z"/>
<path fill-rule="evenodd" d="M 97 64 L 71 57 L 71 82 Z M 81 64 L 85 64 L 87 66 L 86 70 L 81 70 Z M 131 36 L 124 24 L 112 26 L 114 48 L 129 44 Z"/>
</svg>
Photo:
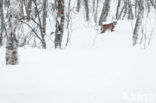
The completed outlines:
<svg viewBox="0 0 156 103">
<path fill-rule="evenodd" d="M 20 0 L 10 0 L 10 17 L 8 27 L 8 38 L 6 44 L 6 64 L 16 65 L 18 63 L 18 41 L 16 39 L 16 26 L 22 17 Z"/>
</svg>

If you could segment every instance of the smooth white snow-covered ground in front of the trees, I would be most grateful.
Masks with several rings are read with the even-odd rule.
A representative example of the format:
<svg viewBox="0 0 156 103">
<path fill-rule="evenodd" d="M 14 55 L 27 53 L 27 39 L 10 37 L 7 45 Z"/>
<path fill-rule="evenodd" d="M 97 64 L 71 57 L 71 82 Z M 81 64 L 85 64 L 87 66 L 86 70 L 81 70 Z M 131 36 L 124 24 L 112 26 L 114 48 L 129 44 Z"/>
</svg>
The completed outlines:
<svg viewBox="0 0 156 103">
<path fill-rule="evenodd" d="M 127 21 L 113 33 L 75 28 L 63 50 L 20 48 L 17 66 L 5 65 L 0 48 L 0 103 L 156 102 L 156 40 L 132 47 Z"/>
</svg>

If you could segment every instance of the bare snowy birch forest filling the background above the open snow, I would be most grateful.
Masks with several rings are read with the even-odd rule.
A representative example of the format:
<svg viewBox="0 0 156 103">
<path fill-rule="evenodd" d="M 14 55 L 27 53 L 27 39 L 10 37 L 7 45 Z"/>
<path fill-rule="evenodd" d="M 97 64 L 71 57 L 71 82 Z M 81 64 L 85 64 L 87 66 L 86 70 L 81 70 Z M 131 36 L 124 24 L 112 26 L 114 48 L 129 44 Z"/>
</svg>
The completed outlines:
<svg viewBox="0 0 156 103">
<path fill-rule="evenodd" d="M 116 25 L 113 22 L 134 20 L 131 27 L 133 46 L 139 41 L 145 46 L 150 44 L 154 35 L 155 23 L 149 24 L 150 29 L 153 28 L 150 31 L 147 24 L 150 22 L 148 19 L 151 21 L 155 19 L 151 18 L 156 12 L 155 0 L 1 0 L 0 2 L 0 46 L 6 46 L 6 64 L 18 63 L 18 47 L 31 46 L 43 49 L 48 48 L 47 45 L 54 48 L 67 47 L 74 31 L 72 28 L 74 18 L 81 15 L 81 11 L 84 22 L 94 23 L 94 29 L 99 33 L 104 22 L 111 22 L 114 28 Z M 146 25 L 143 25 L 143 22 Z M 65 42 L 62 42 L 63 39 Z"/>
</svg>

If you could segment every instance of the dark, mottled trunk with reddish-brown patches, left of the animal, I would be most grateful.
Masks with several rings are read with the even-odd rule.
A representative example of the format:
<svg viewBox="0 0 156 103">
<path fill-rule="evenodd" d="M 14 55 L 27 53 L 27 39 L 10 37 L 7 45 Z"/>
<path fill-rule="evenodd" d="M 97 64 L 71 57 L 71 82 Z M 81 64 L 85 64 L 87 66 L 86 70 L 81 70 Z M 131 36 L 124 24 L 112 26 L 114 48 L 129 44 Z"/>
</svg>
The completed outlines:
<svg viewBox="0 0 156 103">
<path fill-rule="evenodd" d="M 56 30 L 55 30 L 55 48 L 61 48 L 64 32 L 64 0 L 55 0 L 57 8 Z"/>
</svg>

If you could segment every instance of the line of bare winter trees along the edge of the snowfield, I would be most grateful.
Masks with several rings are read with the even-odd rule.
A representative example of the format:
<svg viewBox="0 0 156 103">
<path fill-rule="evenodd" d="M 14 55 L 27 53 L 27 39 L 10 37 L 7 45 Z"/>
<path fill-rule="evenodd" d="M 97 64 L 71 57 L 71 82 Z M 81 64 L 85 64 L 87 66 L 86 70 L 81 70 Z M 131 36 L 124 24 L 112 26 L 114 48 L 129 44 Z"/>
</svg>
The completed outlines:
<svg viewBox="0 0 156 103">
<path fill-rule="evenodd" d="M 74 6 L 72 2 L 76 2 Z M 40 47 L 47 48 L 47 18 L 48 15 L 55 17 L 54 47 L 62 48 L 64 29 L 66 28 L 67 42 L 70 40 L 71 15 L 75 12 L 85 11 L 85 20 L 101 26 L 108 20 L 112 3 L 116 4 L 115 20 L 135 20 L 133 30 L 133 45 L 138 41 L 141 24 L 146 15 L 156 10 L 156 0 L 0 0 L 0 46 L 6 46 L 6 64 L 18 63 L 18 47 L 29 45 L 32 38 L 39 42 Z M 102 8 L 100 8 L 102 5 Z M 55 15 L 56 14 L 56 15 Z M 91 15 L 93 14 L 93 16 Z M 54 22 L 53 22 L 54 23 Z M 25 25 L 29 33 L 23 35 Z M 33 35 L 33 36 L 32 36 Z M 35 45 L 38 45 L 35 43 Z"/>
</svg>

